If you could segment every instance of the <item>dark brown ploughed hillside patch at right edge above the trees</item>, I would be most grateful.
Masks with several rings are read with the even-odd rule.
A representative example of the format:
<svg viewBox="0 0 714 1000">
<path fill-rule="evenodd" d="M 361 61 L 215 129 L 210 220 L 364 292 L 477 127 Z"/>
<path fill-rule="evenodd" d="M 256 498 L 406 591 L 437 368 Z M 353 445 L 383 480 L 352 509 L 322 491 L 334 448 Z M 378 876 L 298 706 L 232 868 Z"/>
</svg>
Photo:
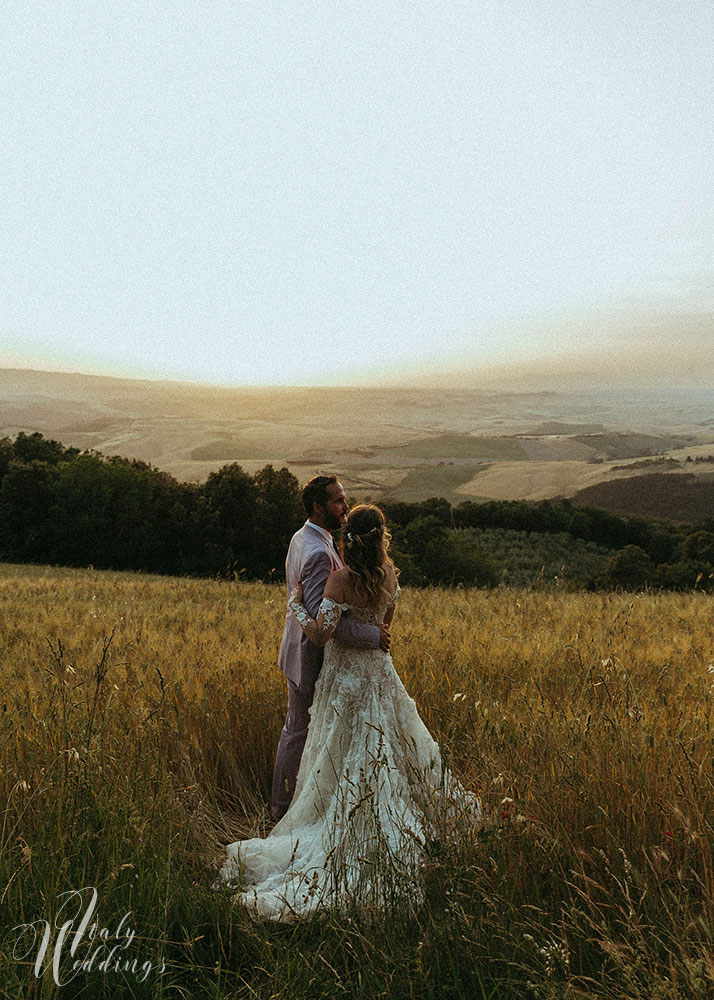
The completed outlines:
<svg viewBox="0 0 714 1000">
<path fill-rule="evenodd" d="M 611 479 L 580 490 L 572 502 L 614 514 L 699 524 L 714 518 L 714 475 L 657 472 Z"/>
</svg>

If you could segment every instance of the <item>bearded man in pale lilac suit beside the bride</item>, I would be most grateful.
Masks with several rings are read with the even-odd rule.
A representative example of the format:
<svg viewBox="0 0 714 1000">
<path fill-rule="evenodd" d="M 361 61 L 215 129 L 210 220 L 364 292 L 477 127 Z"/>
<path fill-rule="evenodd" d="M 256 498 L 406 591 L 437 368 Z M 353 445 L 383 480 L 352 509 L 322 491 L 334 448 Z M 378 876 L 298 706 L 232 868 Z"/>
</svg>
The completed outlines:
<svg viewBox="0 0 714 1000">
<path fill-rule="evenodd" d="M 298 581 L 302 583 L 302 603 L 308 614 L 317 618 L 325 581 L 333 570 L 343 566 L 330 532 L 338 531 L 347 520 L 348 504 L 336 476 L 311 479 L 303 487 L 302 502 L 308 519 L 290 542 L 285 577 L 288 594 Z M 363 625 L 343 616 L 334 634 L 347 646 L 389 649 L 390 636 L 386 625 Z M 320 646 L 310 642 L 288 608 L 278 657 L 278 666 L 288 681 L 288 714 L 280 734 L 273 774 L 271 810 L 276 819 L 285 815 L 295 791 L 310 722 L 308 709 L 312 704 L 323 652 Z"/>
</svg>

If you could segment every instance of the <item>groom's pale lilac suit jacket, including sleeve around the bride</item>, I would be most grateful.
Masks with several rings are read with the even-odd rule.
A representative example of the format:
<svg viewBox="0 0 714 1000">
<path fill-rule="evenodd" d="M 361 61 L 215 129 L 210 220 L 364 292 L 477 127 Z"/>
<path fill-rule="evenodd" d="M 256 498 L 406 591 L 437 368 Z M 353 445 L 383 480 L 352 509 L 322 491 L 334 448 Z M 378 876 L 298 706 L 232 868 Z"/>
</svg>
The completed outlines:
<svg viewBox="0 0 714 1000">
<path fill-rule="evenodd" d="M 302 581 L 303 599 L 311 618 L 317 618 L 325 581 L 330 573 L 341 569 L 343 562 L 331 538 L 321 534 L 307 522 L 296 531 L 285 560 L 288 594 Z M 366 649 L 379 647 L 379 629 L 364 625 L 343 615 L 334 635 L 347 646 Z M 300 691 L 310 694 L 322 666 L 323 648 L 310 642 L 290 608 L 285 617 L 285 630 L 280 643 L 278 666 Z"/>
</svg>

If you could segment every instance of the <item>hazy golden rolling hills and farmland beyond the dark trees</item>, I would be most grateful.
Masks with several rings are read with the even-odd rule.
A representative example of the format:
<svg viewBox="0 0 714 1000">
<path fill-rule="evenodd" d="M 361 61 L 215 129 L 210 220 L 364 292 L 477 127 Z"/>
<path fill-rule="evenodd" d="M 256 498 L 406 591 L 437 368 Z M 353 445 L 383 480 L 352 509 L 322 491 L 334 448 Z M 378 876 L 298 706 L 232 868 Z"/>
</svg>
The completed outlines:
<svg viewBox="0 0 714 1000">
<path fill-rule="evenodd" d="M 218 387 L 0 368 L 0 438 L 38 431 L 182 481 L 230 462 L 250 474 L 286 466 L 300 482 L 336 472 L 354 501 L 572 496 L 627 475 L 614 467 L 627 460 L 706 477 L 709 467 L 685 461 L 714 454 L 713 415 L 714 390 L 497 392 L 476 377 Z"/>
</svg>

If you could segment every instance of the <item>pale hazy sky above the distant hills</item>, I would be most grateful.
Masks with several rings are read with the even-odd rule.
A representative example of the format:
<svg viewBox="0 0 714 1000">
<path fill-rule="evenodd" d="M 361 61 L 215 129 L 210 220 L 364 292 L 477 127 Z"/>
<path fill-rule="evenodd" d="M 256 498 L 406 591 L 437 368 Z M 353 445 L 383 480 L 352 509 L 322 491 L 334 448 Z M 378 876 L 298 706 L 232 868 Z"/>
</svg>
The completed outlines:
<svg viewBox="0 0 714 1000">
<path fill-rule="evenodd" d="M 306 384 L 706 325 L 712 51 L 711 0 L 4 0 L 0 365 Z"/>
</svg>

